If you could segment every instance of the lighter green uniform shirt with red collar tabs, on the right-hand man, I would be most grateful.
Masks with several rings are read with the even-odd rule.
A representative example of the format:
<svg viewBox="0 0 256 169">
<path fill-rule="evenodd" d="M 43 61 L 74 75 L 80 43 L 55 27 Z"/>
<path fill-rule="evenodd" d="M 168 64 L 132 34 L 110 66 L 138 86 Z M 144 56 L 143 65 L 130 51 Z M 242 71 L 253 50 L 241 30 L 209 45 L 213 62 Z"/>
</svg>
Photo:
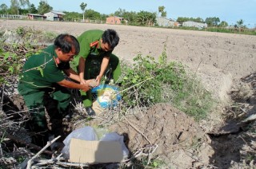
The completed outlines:
<svg viewBox="0 0 256 169">
<path fill-rule="evenodd" d="M 78 53 L 78 56 L 74 57 L 75 65 L 78 65 L 79 57 L 83 57 L 85 59 L 88 56 L 110 57 L 112 51 L 105 52 L 101 49 L 100 40 L 102 38 L 103 33 L 104 31 L 100 29 L 87 30 L 77 38 L 80 45 L 80 53 Z"/>
</svg>

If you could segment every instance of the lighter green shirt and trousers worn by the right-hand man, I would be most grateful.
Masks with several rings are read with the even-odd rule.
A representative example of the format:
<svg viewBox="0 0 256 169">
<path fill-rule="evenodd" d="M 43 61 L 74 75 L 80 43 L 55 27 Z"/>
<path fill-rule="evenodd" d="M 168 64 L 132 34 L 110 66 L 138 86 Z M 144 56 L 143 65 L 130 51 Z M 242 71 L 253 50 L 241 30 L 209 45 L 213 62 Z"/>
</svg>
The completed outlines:
<svg viewBox="0 0 256 169">
<path fill-rule="evenodd" d="M 112 54 L 112 51 L 106 52 L 101 49 L 100 40 L 103 33 L 104 31 L 99 29 L 88 30 L 77 38 L 80 45 L 80 53 L 74 57 L 74 63 L 78 66 L 79 57 L 86 59 L 84 79 L 89 80 L 96 78 L 100 73 L 103 57 L 110 57 L 106 70 L 111 69 L 113 71 L 113 79 L 116 82 L 121 75 L 119 59 Z M 91 92 L 81 91 L 81 95 L 85 107 L 90 107 L 92 105 Z"/>
</svg>

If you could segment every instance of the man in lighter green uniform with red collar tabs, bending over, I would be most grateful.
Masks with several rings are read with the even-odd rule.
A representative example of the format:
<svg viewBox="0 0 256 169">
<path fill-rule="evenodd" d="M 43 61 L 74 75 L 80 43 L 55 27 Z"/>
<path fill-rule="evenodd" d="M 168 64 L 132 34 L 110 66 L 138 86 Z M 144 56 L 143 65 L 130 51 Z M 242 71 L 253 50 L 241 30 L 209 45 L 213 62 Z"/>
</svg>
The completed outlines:
<svg viewBox="0 0 256 169">
<path fill-rule="evenodd" d="M 78 37 L 80 44 L 80 53 L 74 57 L 75 64 L 78 65 L 78 73 L 81 79 L 80 83 L 85 84 L 86 81 L 95 78 L 99 85 L 106 70 L 112 71 L 107 73 L 107 77 L 113 77 L 114 83 L 117 83 L 121 75 L 120 63 L 112 51 L 118 45 L 118 33 L 114 29 L 87 30 Z M 83 104 L 86 107 L 88 115 L 95 115 L 92 106 L 91 92 L 81 91 Z"/>
</svg>

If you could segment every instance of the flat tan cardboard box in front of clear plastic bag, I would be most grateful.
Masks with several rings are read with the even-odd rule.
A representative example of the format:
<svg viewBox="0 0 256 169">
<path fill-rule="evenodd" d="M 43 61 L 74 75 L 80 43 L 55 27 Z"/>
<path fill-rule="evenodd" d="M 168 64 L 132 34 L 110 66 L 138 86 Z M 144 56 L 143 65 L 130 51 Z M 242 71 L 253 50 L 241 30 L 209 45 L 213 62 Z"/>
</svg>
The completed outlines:
<svg viewBox="0 0 256 169">
<path fill-rule="evenodd" d="M 118 141 L 70 140 L 70 162 L 120 163 L 122 147 Z"/>
</svg>

